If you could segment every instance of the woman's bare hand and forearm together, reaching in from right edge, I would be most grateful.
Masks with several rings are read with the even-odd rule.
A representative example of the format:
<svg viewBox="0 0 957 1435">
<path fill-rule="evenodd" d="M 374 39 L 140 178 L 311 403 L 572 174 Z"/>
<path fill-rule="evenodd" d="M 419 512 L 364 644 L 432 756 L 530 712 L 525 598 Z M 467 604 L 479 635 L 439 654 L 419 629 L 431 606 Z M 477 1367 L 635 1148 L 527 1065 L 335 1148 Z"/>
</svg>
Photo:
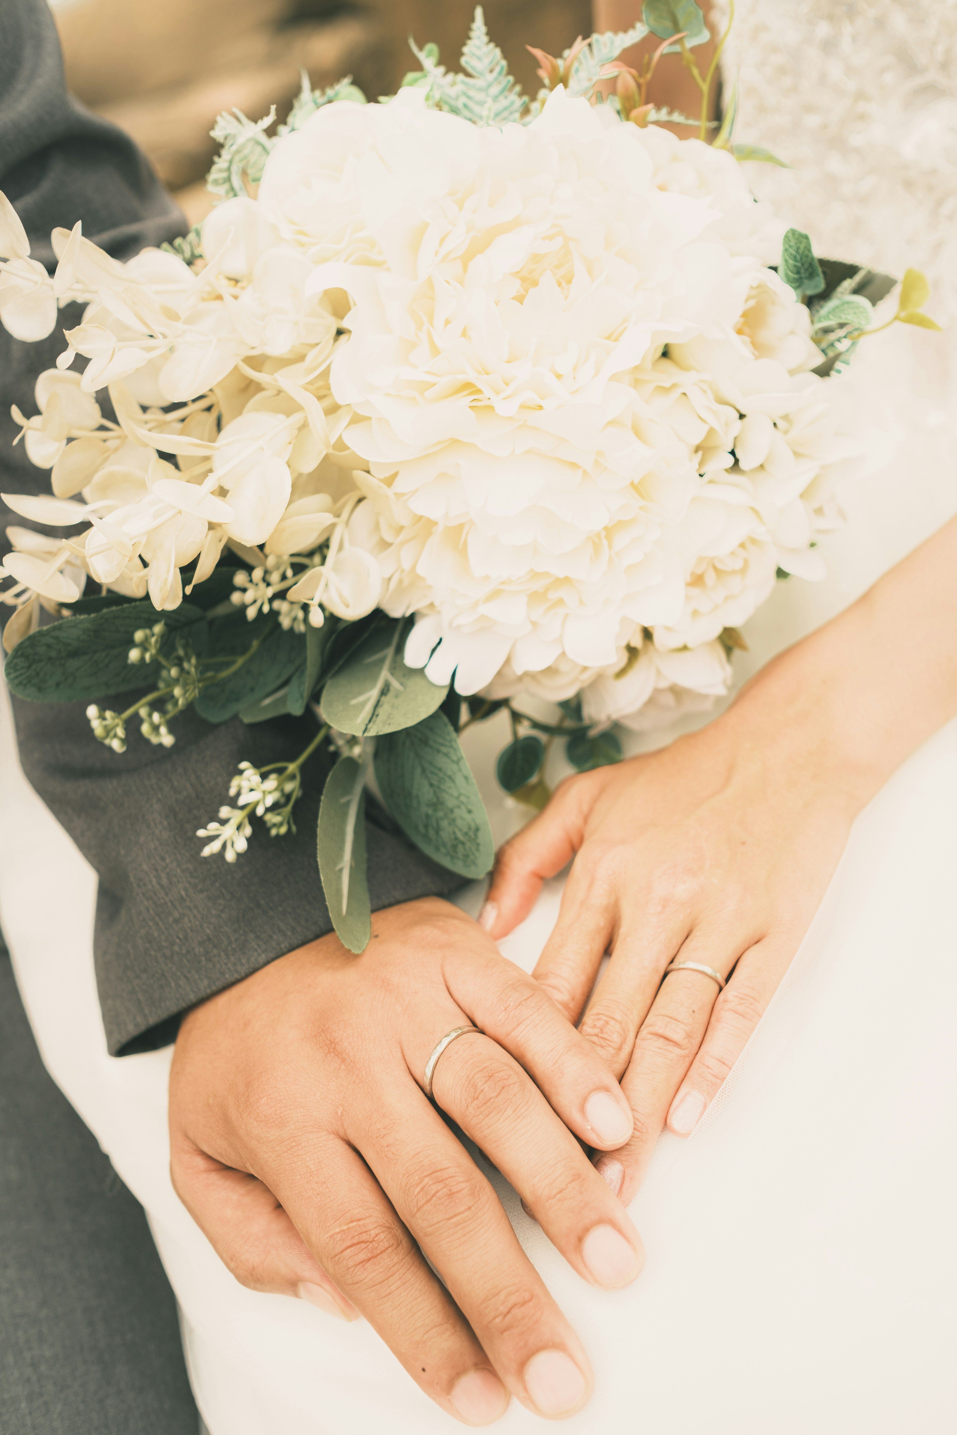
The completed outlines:
<svg viewBox="0 0 957 1435">
<path fill-rule="evenodd" d="M 598 1170 L 627 1204 L 667 1121 L 687 1135 L 808 930 L 857 812 L 957 712 L 957 519 L 775 659 L 716 722 L 564 782 L 498 860 L 504 937 L 574 857 L 535 976 L 631 1101 Z M 577 854 L 577 855 L 575 855 Z M 673 960 L 716 970 L 727 986 Z"/>
</svg>

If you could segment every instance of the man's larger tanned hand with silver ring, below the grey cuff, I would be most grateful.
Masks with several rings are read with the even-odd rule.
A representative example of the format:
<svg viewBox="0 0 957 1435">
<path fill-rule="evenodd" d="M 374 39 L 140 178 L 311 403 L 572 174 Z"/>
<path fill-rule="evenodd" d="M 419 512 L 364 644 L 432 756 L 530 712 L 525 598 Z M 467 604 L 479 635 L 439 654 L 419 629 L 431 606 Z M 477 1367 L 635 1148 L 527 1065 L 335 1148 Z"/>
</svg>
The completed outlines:
<svg viewBox="0 0 957 1435">
<path fill-rule="evenodd" d="M 436 1104 L 584 1280 L 627 1284 L 640 1238 L 575 1139 L 627 1139 L 617 1082 L 551 997 L 433 898 L 377 913 L 360 957 L 323 937 L 187 1016 L 174 1184 L 242 1284 L 364 1314 L 465 1424 L 496 1419 L 508 1392 L 570 1415 L 588 1359 L 425 1095 L 430 1052 L 468 1025 L 482 1030 L 440 1056 Z"/>
</svg>

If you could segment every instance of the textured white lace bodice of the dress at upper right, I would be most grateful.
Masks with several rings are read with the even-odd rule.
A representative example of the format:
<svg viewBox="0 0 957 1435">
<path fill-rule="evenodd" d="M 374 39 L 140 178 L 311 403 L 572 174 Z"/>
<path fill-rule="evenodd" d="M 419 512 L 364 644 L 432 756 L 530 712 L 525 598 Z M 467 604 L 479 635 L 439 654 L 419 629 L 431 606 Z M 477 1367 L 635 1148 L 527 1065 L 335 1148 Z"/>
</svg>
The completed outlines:
<svg viewBox="0 0 957 1435">
<path fill-rule="evenodd" d="M 727 0 L 716 0 L 715 22 Z M 815 247 L 900 276 L 957 320 L 957 0 L 736 0 L 725 86 L 735 136 L 793 169 L 749 164 Z"/>
</svg>

